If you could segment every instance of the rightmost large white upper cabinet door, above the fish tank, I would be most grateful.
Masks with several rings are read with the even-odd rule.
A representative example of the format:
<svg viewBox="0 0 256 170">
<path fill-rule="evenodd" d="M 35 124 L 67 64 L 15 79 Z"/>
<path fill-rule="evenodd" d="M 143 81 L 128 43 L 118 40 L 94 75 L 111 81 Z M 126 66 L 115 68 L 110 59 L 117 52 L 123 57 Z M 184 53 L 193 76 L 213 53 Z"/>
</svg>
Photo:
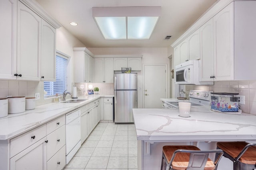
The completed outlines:
<svg viewBox="0 0 256 170">
<path fill-rule="evenodd" d="M 234 79 L 234 2 L 213 17 L 214 80 Z"/>
</svg>

